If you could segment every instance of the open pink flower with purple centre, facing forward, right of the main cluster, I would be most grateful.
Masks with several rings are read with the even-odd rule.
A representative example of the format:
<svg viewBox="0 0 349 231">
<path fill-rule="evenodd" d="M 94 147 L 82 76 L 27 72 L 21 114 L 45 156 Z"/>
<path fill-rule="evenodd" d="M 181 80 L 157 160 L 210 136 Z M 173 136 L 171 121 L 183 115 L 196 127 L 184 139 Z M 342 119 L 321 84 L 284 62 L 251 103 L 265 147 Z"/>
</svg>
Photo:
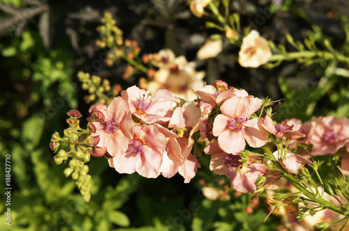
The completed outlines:
<svg viewBox="0 0 349 231">
<path fill-rule="evenodd" d="M 221 149 L 227 153 L 244 150 L 247 141 L 259 148 L 268 141 L 268 132 L 262 127 L 262 118 L 248 120 L 262 106 L 262 99 L 252 96 L 231 97 L 221 105 L 221 112 L 214 119 L 213 134 L 218 136 Z"/>
</svg>

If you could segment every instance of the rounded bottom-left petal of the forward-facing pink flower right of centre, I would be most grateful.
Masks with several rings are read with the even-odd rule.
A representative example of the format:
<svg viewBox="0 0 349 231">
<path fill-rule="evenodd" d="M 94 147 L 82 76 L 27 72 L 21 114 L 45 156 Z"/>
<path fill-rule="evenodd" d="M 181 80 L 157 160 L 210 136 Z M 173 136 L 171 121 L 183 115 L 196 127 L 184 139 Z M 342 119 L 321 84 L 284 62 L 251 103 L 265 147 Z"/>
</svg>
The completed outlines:
<svg viewBox="0 0 349 231">
<path fill-rule="evenodd" d="M 236 154 L 245 149 L 246 143 L 242 132 L 227 130 L 218 136 L 220 148 L 227 153 Z"/>
</svg>

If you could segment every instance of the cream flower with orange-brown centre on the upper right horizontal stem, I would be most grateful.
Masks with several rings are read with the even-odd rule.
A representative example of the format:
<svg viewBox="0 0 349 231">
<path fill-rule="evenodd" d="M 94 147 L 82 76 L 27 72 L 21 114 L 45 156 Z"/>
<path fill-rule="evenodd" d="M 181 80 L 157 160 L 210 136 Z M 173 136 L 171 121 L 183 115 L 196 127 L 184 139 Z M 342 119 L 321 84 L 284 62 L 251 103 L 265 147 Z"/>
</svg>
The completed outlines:
<svg viewBox="0 0 349 231">
<path fill-rule="evenodd" d="M 259 67 L 269 61 L 272 51 L 258 31 L 251 31 L 243 40 L 239 51 L 239 64 L 243 67 Z"/>
</svg>

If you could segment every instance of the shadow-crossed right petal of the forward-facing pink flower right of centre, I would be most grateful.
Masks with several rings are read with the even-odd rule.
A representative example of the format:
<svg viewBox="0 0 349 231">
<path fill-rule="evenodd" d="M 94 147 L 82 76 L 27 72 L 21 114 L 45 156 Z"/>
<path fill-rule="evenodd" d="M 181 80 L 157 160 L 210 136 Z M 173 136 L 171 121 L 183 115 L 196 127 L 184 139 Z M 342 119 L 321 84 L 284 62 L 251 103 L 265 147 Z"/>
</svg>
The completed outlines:
<svg viewBox="0 0 349 231">
<path fill-rule="evenodd" d="M 263 118 L 254 118 L 245 122 L 244 138 L 252 148 L 260 148 L 268 142 L 269 133 L 262 127 Z"/>
</svg>

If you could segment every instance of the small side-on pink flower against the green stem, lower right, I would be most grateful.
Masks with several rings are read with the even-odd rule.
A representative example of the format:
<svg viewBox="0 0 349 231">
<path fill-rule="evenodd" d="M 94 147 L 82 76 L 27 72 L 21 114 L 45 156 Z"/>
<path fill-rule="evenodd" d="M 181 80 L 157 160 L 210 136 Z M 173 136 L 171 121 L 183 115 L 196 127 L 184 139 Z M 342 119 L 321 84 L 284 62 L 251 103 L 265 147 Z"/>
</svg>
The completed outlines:
<svg viewBox="0 0 349 231">
<path fill-rule="evenodd" d="M 285 152 L 285 150 L 283 150 Z M 309 159 L 305 159 L 299 154 L 294 154 L 290 150 L 287 150 L 286 153 L 284 153 L 283 159 L 279 159 L 279 151 L 276 150 L 273 152 L 273 155 L 276 159 L 279 160 L 279 163 L 285 170 L 288 171 L 288 173 L 298 173 L 299 168 L 302 168 L 305 164 L 313 164 Z"/>
</svg>

